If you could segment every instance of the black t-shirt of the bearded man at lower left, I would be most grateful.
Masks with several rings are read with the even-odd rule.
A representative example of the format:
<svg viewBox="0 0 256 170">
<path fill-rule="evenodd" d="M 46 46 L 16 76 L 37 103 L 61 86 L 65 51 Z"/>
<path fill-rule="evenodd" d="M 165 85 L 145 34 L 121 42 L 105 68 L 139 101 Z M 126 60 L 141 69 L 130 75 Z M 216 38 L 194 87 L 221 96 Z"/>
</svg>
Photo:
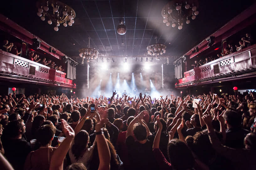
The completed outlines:
<svg viewBox="0 0 256 170">
<path fill-rule="evenodd" d="M 27 155 L 31 152 L 30 143 L 24 138 L 8 140 L 3 143 L 5 156 L 15 170 L 23 169 Z"/>
</svg>

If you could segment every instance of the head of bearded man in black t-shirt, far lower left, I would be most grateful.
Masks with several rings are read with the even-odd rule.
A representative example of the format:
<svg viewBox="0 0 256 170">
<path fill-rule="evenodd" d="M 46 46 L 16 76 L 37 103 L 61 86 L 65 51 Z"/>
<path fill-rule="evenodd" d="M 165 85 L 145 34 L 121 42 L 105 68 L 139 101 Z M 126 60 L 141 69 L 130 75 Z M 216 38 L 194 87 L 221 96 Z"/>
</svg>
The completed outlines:
<svg viewBox="0 0 256 170">
<path fill-rule="evenodd" d="M 26 132 L 25 129 L 24 121 L 19 119 L 9 122 L 4 129 L 4 132 L 6 132 L 10 138 L 15 138 L 19 135 L 23 135 Z"/>
</svg>

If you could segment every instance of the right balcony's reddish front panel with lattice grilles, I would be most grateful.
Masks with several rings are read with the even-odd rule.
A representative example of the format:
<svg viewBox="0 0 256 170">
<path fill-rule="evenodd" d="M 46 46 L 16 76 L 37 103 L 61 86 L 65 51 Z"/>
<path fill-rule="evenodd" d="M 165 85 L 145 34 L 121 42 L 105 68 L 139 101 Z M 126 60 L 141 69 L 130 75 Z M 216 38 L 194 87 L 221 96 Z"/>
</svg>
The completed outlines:
<svg viewBox="0 0 256 170">
<path fill-rule="evenodd" d="M 256 44 L 184 73 L 175 87 L 189 87 L 256 76 Z"/>
</svg>

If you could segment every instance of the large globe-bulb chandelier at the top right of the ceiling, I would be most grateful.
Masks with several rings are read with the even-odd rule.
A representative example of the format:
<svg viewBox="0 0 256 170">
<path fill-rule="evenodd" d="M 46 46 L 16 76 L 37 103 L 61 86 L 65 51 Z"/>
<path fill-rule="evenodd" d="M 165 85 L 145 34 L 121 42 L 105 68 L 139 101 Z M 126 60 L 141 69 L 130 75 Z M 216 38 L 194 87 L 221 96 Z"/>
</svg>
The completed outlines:
<svg viewBox="0 0 256 170">
<path fill-rule="evenodd" d="M 178 29 L 182 29 L 183 22 L 190 23 L 190 18 L 195 19 L 199 14 L 198 1 L 197 0 L 172 0 L 168 2 L 162 9 L 163 22 L 167 26 L 176 27 L 178 23 Z"/>
</svg>

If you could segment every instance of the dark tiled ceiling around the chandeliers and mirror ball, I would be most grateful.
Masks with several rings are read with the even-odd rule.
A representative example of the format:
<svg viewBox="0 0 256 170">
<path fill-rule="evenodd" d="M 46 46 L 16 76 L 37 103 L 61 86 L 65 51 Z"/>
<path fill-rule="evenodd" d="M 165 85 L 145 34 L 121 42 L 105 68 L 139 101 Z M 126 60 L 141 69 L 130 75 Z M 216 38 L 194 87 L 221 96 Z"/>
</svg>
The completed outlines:
<svg viewBox="0 0 256 170">
<path fill-rule="evenodd" d="M 99 50 L 99 56 L 133 57 L 146 55 L 146 47 L 155 43 L 167 45 L 164 57 L 180 56 L 215 32 L 230 19 L 248 8 L 253 0 L 199 0 L 199 15 L 184 24 L 167 27 L 161 10 L 168 0 L 60 0 L 76 12 L 72 27 L 59 27 L 41 21 L 36 15 L 36 1 L 7 0 L 0 12 L 29 32 L 42 38 L 67 56 L 78 56 L 78 50 L 88 46 Z M 125 21 L 127 32 L 119 35 L 115 29 Z"/>
</svg>

